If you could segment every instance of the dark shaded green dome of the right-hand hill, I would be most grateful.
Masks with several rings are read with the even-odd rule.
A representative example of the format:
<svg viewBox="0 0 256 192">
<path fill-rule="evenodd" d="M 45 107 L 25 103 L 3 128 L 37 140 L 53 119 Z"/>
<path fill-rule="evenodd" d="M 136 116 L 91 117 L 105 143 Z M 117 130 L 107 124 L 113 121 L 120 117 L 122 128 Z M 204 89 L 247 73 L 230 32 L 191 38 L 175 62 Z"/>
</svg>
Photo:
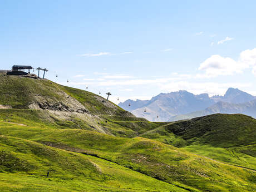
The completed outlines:
<svg viewBox="0 0 256 192">
<path fill-rule="evenodd" d="M 255 143 L 256 120 L 245 115 L 215 114 L 181 121 L 165 130 L 181 136 L 188 142 L 210 144 L 218 147 L 234 147 Z"/>
</svg>

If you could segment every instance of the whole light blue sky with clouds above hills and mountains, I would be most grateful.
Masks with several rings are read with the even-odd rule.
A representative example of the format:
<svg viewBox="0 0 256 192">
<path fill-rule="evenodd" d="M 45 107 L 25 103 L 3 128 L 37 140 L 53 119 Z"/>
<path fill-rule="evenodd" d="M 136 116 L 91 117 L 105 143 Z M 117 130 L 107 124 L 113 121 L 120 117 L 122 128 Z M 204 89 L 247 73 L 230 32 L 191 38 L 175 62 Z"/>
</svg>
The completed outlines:
<svg viewBox="0 0 256 192">
<path fill-rule="evenodd" d="M 255 7 L 255 1 L 0 0 L 0 68 L 47 68 L 48 79 L 111 91 L 114 102 L 178 90 L 223 95 L 228 87 L 256 95 Z"/>
</svg>

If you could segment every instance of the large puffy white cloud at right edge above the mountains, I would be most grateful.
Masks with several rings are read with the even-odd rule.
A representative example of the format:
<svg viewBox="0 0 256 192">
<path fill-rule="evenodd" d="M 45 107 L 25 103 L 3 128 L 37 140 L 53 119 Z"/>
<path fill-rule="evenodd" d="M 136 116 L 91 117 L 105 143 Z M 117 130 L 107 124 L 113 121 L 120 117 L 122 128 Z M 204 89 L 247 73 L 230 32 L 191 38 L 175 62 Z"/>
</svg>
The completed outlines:
<svg viewBox="0 0 256 192">
<path fill-rule="evenodd" d="M 208 76 L 215 77 L 219 75 L 233 75 L 241 73 L 245 68 L 252 68 L 255 74 L 256 68 L 256 48 L 253 50 L 245 50 L 240 53 L 238 61 L 229 57 L 221 57 L 220 55 L 213 55 L 201 63 L 198 68 L 205 71 L 205 74 L 198 74 L 198 77 Z"/>
</svg>

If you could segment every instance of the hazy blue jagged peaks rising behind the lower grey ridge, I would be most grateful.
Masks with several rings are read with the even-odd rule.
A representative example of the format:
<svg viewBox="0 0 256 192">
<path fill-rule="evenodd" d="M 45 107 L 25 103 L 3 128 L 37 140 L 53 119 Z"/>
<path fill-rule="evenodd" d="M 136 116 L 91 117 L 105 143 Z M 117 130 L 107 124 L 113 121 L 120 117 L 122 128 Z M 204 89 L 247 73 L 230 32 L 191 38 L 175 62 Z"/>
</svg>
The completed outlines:
<svg viewBox="0 0 256 192">
<path fill-rule="evenodd" d="M 215 105 L 214 109 L 216 109 L 216 106 L 224 105 L 225 108 L 227 108 L 229 104 L 240 104 L 254 99 L 256 99 L 256 97 L 249 93 L 241 91 L 238 88 L 230 87 L 224 96 L 215 95 L 209 97 L 208 93 L 195 95 L 186 90 L 179 90 L 169 93 L 160 93 L 159 95 L 152 97 L 151 100 L 146 101 L 127 100 L 123 105 L 121 104 L 119 106 L 132 112 L 136 116 L 144 117 L 150 121 L 168 121 L 173 116 L 185 115 L 194 111 L 202 111 L 218 102 L 220 103 Z M 131 106 L 128 106 L 128 103 L 130 103 Z M 146 113 L 144 112 L 145 107 L 147 108 Z M 160 117 L 156 118 L 156 116 Z"/>
</svg>

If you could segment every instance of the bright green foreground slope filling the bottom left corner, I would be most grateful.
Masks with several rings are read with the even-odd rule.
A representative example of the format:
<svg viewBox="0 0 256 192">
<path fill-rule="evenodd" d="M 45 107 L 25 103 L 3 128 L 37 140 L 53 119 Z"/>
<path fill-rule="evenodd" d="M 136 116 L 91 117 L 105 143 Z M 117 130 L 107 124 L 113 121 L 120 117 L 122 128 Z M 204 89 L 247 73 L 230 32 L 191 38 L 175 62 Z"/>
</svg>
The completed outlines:
<svg viewBox="0 0 256 192">
<path fill-rule="evenodd" d="M 0 144 L 1 191 L 185 191 L 106 160 L 37 142 L 0 136 Z"/>
</svg>

